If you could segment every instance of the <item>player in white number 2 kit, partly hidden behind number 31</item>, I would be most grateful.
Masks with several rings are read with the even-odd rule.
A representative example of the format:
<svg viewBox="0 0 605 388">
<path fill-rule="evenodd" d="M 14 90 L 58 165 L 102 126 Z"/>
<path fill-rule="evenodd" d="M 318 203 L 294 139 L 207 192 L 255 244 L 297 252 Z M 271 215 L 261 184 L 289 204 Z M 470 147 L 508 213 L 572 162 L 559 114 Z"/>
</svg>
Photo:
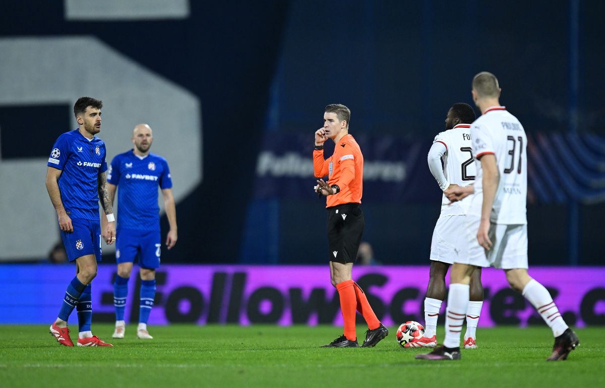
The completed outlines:
<svg viewBox="0 0 605 388">
<path fill-rule="evenodd" d="M 431 269 L 424 300 L 425 332 L 421 337 L 408 342 L 405 348 L 434 348 L 437 346 L 437 318 L 445 299 L 445 275 L 454 257 L 457 256 L 456 241 L 463 230 L 463 222 L 471 198 L 451 202 L 445 195 L 454 187 L 474 183 L 476 168 L 471 150 L 469 128 L 475 121 L 475 111 L 465 103 L 456 103 L 448 111 L 445 131 L 435 137 L 428 152 L 428 166 L 443 190 L 441 215 L 437 219 L 431 242 Z M 443 160 L 443 167 L 441 165 Z M 481 269 L 477 268 L 471 277 L 469 310 L 466 313 L 465 349 L 475 349 L 476 329 L 483 306 L 483 286 Z"/>
</svg>

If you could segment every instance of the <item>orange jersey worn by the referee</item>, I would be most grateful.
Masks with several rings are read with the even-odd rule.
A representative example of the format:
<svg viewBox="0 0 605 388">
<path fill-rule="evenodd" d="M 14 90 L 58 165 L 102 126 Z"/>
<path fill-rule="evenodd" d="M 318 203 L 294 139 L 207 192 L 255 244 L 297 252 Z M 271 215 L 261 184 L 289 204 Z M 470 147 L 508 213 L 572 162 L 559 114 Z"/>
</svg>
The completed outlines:
<svg viewBox="0 0 605 388">
<path fill-rule="evenodd" d="M 324 160 L 324 150 L 313 151 L 315 176 L 329 175 L 328 184 L 340 187 L 340 192 L 326 198 L 326 206 L 356 202 L 361 204 L 364 179 L 364 155 L 352 135 L 347 134 L 336 143 L 334 154 Z"/>
</svg>

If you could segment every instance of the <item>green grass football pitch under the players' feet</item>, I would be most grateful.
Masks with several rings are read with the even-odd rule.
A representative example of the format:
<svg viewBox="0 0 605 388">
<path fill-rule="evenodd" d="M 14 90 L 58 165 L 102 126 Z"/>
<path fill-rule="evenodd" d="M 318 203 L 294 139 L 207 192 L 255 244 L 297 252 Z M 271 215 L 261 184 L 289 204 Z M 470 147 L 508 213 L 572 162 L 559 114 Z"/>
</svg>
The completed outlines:
<svg viewBox="0 0 605 388">
<path fill-rule="evenodd" d="M 393 327 L 375 348 L 359 349 L 319 348 L 342 333 L 334 326 L 151 326 L 154 339 L 139 340 L 132 325 L 113 340 L 113 325 L 93 325 L 114 348 L 67 348 L 48 326 L 0 328 L 2 387 L 605 386 L 605 328 L 578 329 L 581 346 L 548 363 L 546 326 L 480 328 L 479 349 L 463 350 L 460 361 L 415 360 L 426 350 L 401 348 Z M 437 335 L 443 340 L 443 326 Z"/>
</svg>

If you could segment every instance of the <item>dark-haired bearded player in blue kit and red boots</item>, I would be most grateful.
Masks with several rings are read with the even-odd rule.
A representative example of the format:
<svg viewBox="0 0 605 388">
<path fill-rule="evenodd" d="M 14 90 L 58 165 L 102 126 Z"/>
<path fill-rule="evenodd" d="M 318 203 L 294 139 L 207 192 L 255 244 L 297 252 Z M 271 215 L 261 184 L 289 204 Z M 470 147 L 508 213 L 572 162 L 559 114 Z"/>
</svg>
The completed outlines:
<svg viewBox="0 0 605 388">
<path fill-rule="evenodd" d="M 105 178 L 105 143 L 96 137 L 101 130 L 103 102 L 81 97 L 74 105 L 78 129 L 59 136 L 48 158 L 46 188 L 59 217 L 61 237 L 70 262 L 76 262 L 76 277 L 65 291 L 59 317 L 50 334 L 65 346 L 74 346 L 67 319 L 77 306 L 77 346 L 113 346 L 90 330 L 93 316 L 91 282 L 101 260 L 101 234 L 107 244 L 116 238 L 113 207 Z M 99 199 L 106 215 L 103 232 L 99 227 Z"/>
</svg>

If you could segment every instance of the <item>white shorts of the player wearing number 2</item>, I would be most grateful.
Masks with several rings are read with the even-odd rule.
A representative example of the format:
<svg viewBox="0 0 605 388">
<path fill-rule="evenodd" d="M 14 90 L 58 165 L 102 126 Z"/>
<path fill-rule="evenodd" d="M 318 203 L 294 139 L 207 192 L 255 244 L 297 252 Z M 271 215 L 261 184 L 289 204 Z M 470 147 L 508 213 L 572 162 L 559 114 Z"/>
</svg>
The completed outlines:
<svg viewBox="0 0 605 388">
<path fill-rule="evenodd" d="M 437 219 L 433 240 L 431 241 L 431 260 L 454 264 L 456 242 L 463 233 L 466 216 L 440 216 Z"/>
</svg>

